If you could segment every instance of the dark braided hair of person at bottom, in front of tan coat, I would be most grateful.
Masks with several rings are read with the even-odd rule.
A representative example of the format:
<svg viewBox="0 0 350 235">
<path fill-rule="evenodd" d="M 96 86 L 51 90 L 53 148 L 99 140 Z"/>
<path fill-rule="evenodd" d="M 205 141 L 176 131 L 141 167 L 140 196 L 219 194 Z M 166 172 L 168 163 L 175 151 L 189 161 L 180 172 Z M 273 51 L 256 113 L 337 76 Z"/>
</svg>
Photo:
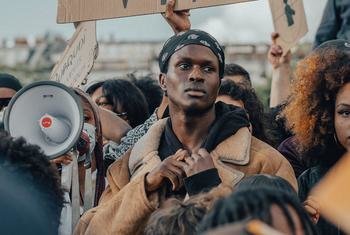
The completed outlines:
<svg viewBox="0 0 350 235">
<path fill-rule="evenodd" d="M 213 209 L 204 217 L 198 230 L 204 232 L 224 224 L 246 219 L 258 219 L 272 226 L 272 206 L 281 209 L 293 234 L 296 234 L 296 225 L 292 219 L 290 208 L 298 215 L 305 235 L 317 234 L 314 225 L 296 196 L 267 187 L 247 188 L 237 191 L 225 199 L 218 200 Z"/>
</svg>

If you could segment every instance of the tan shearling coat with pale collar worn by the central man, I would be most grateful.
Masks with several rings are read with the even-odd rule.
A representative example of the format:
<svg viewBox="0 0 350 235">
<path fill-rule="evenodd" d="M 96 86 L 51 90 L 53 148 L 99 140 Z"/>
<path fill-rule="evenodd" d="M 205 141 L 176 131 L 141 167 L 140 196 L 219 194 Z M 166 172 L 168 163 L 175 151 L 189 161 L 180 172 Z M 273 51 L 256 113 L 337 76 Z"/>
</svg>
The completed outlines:
<svg viewBox="0 0 350 235">
<path fill-rule="evenodd" d="M 145 175 L 161 162 L 158 147 L 166 119 L 155 123 L 119 161 L 107 171 L 108 187 L 97 207 L 86 212 L 74 234 L 142 234 L 150 214 L 164 201 L 160 192 L 147 194 Z M 212 152 L 222 183 L 233 187 L 243 177 L 270 174 L 286 179 L 296 190 L 297 181 L 289 162 L 274 148 L 241 128 Z M 161 191 L 161 190 L 160 190 Z"/>
</svg>

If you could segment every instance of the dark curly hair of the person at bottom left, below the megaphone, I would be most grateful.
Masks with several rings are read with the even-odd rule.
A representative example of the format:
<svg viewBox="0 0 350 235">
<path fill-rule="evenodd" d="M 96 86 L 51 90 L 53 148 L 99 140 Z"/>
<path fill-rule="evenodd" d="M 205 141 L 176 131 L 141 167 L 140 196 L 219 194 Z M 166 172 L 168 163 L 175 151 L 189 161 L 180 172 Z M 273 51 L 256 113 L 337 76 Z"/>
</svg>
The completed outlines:
<svg viewBox="0 0 350 235">
<path fill-rule="evenodd" d="M 28 144 L 24 138 L 14 139 L 0 132 L 0 171 L 3 170 L 26 181 L 25 187 L 33 195 L 40 192 L 38 201 L 47 211 L 52 234 L 57 234 L 64 203 L 63 189 L 57 170 L 40 148 Z"/>
</svg>

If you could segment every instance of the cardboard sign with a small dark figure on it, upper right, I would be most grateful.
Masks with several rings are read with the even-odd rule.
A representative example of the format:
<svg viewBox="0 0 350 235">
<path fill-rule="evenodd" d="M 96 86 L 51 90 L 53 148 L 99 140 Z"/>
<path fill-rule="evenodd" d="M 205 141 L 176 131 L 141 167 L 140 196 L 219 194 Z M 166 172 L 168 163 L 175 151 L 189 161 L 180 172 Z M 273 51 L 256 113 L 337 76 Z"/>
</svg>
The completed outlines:
<svg viewBox="0 0 350 235">
<path fill-rule="evenodd" d="M 303 0 L 269 0 L 277 44 L 286 54 L 308 32 Z"/>
</svg>

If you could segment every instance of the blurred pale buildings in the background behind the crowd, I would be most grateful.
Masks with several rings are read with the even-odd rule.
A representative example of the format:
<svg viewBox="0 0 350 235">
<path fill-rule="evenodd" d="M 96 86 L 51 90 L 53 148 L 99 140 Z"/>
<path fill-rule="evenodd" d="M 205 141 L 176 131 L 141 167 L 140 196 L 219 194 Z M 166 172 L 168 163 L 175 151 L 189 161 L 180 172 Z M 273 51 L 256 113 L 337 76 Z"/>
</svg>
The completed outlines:
<svg viewBox="0 0 350 235">
<path fill-rule="evenodd" d="M 123 77 L 128 73 L 158 74 L 158 53 L 164 42 L 99 42 L 99 54 L 89 81 Z M 28 43 L 25 38 L 2 41 L 0 44 L 0 70 L 17 73 L 24 83 L 49 78 L 50 71 L 64 51 L 67 42 L 60 36 L 47 34 L 43 38 Z M 294 53 L 294 59 L 303 58 L 310 50 L 303 44 Z M 227 44 L 224 45 L 226 62 L 237 63 L 251 74 L 253 84 L 263 85 L 269 77 L 267 44 Z"/>
</svg>

